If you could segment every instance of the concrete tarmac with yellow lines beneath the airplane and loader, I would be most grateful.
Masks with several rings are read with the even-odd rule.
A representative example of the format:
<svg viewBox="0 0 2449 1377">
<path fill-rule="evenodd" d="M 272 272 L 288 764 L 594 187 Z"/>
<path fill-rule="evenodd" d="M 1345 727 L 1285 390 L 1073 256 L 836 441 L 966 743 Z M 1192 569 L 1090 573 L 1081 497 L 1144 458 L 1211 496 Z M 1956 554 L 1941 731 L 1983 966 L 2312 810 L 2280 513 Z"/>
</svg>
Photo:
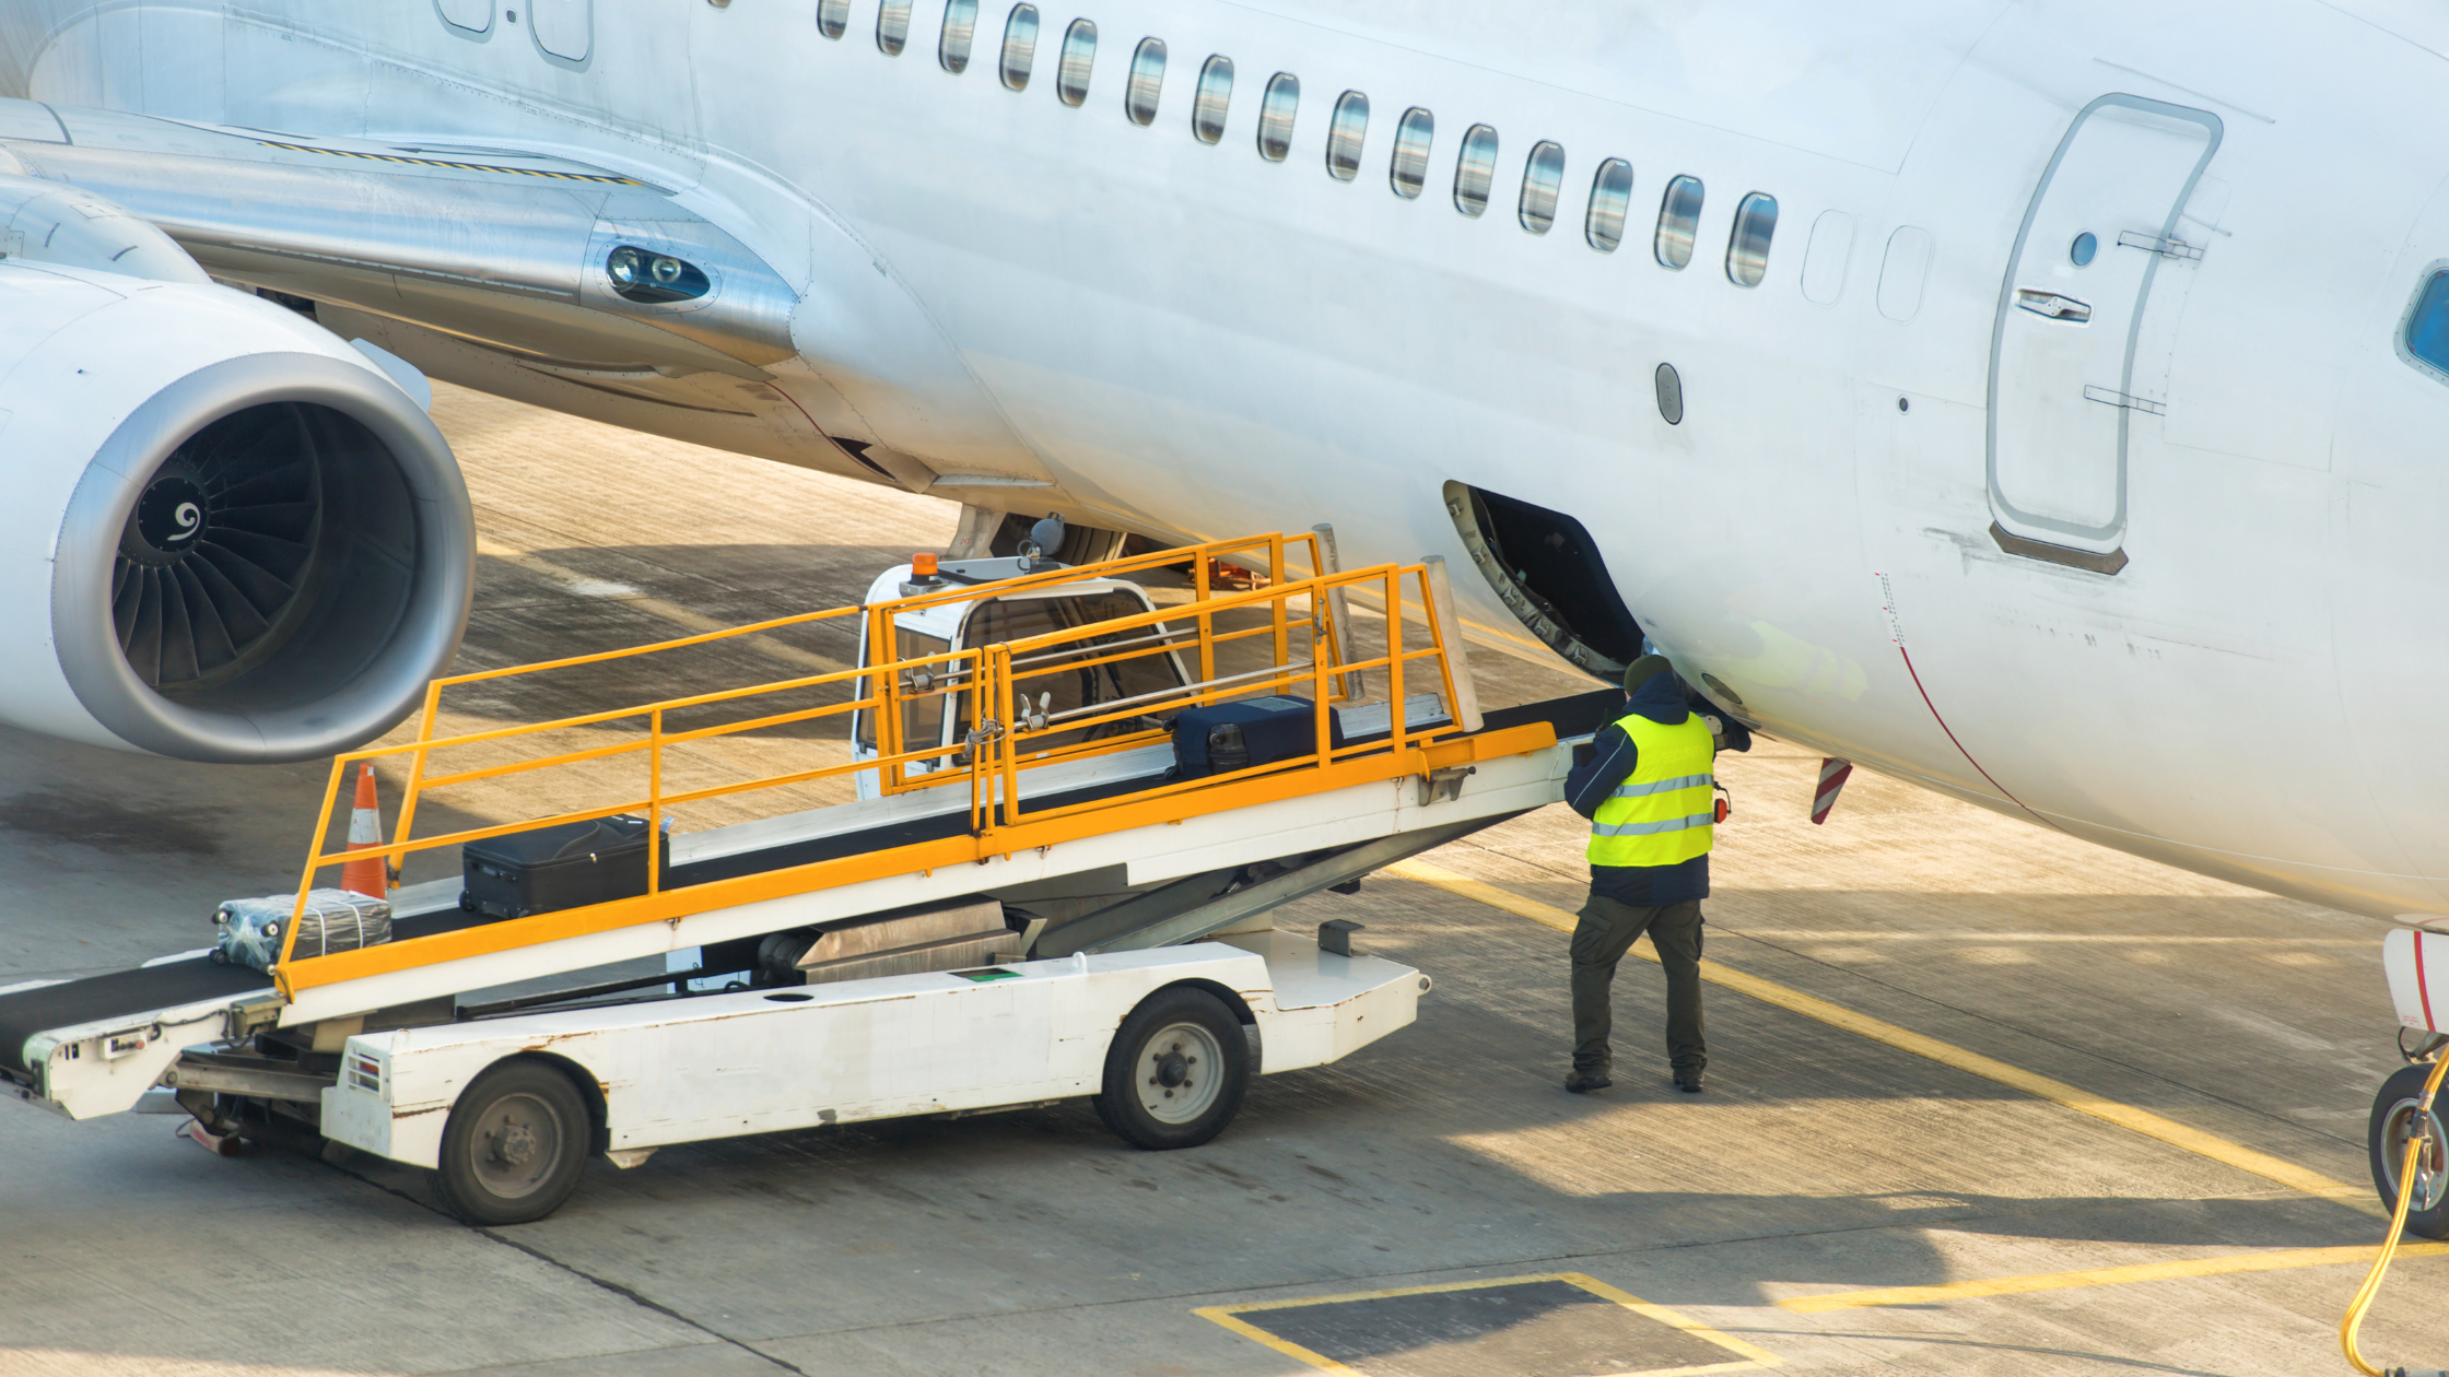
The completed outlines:
<svg viewBox="0 0 2449 1377">
<path fill-rule="evenodd" d="M 953 532 L 451 387 L 436 419 L 485 537 L 463 669 L 852 603 Z M 1587 688 L 1477 666 L 1489 703 Z M 1812 826 L 1817 764 L 1719 762 L 1705 1095 L 1643 960 L 1614 1090 L 1560 1090 L 1585 826 L 1545 809 L 1283 909 L 1438 987 L 1188 1152 L 1085 1103 L 896 1120 L 595 1161 L 475 1230 L 367 1156 L 0 1107 L 0 1375 L 2346 1372 L 2383 926 L 1864 772 Z M 296 885 L 323 782 L 0 733 L 0 987 L 203 946 L 218 899 Z M 2398 1264 L 2368 1352 L 2449 1362 L 2444 1252 Z"/>
</svg>

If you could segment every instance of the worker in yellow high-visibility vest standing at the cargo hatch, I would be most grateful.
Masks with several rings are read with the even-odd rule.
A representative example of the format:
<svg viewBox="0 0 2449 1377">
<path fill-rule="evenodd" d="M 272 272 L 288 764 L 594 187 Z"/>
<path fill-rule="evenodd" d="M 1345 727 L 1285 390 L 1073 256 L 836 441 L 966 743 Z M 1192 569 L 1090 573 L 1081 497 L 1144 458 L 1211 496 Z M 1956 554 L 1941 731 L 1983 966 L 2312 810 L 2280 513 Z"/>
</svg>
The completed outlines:
<svg viewBox="0 0 2449 1377">
<path fill-rule="evenodd" d="M 1695 711 L 1700 708 L 1700 711 Z M 1607 990 L 1643 931 L 1668 973 L 1668 1063 L 1697 1095 L 1709 1066 L 1700 1019 L 1700 902 L 1709 894 L 1719 747 L 1751 750 L 1751 733 L 1685 688 L 1660 654 L 1624 669 L 1624 715 L 1565 777 L 1565 801 L 1589 818 L 1589 902 L 1572 929 L 1575 1095 L 1614 1085 L 1607 1071 Z"/>
</svg>

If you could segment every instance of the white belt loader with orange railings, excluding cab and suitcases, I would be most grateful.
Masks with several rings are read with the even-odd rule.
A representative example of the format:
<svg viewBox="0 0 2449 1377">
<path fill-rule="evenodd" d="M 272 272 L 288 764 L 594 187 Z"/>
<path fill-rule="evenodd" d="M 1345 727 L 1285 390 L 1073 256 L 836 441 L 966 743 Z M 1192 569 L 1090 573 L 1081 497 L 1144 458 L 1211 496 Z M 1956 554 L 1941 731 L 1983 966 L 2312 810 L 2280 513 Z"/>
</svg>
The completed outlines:
<svg viewBox="0 0 2449 1377">
<path fill-rule="evenodd" d="M 1320 951 L 1303 936 L 1276 934 L 1266 914 L 1555 801 L 1570 764 L 1558 742 L 1589 735 L 1616 708 L 1616 696 L 1599 691 L 1479 718 L 1460 654 L 1450 654 L 1460 652 L 1460 635 L 1438 598 L 1442 568 L 1320 571 L 1212 595 L 1205 556 L 1249 544 L 1198 546 L 1200 588 L 1190 608 L 923 664 L 862 664 L 855 681 L 838 674 L 784 684 L 840 681 L 862 693 L 833 708 L 693 735 L 666 730 L 666 718 L 776 686 L 634 711 L 651 713 L 644 752 L 656 777 L 644 806 L 659 813 L 683 799 L 664 789 L 661 762 L 691 738 L 845 708 L 891 725 L 928 691 L 965 698 L 965 720 L 980 730 L 967 733 L 960 757 L 945 762 L 948 752 L 918 750 L 869 760 L 884 796 L 683 833 L 647 894 L 588 909 L 487 921 L 456 904 L 453 885 L 402 889 L 392 943 L 284 960 L 272 987 L 260 973 L 191 956 L 7 992 L 0 995 L 0 1076 L 20 1098 L 69 1117 L 137 1107 L 147 1093 L 154 1103 L 174 1095 L 216 1132 L 321 1134 L 438 1166 L 443 1193 L 465 1215 L 492 1223 L 549 1213 L 590 1149 L 629 1166 L 669 1142 L 820 1122 L 1097 1095 L 1107 1122 L 1141 1147 L 1205 1142 L 1232 1117 L 1242 1076 L 1335 1061 L 1408 1024 L 1428 987 L 1420 973 L 1391 960 Z M 1286 544 L 1269 537 L 1278 573 Z M 1180 554 L 1112 561 L 1097 571 L 1166 559 Z M 1082 573 L 1014 578 L 1004 595 L 1043 593 Z M 1425 649 L 1403 649 L 1406 578 L 1418 586 L 1413 610 L 1430 627 Z M 1337 622 L 1349 613 L 1325 615 L 1325 605 L 1359 581 L 1384 593 L 1393 613 L 1386 654 L 1376 659 L 1357 659 L 1342 644 L 1349 630 L 1340 632 Z M 857 613 L 877 617 L 882 632 L 896 610 L 901 603 Z M 1232 630 L 1232 613 L 1256 615 L 1259 625 Z M 1325 706 L 1342 684 L 1371 669 L 1396 696 L 1376 706 L 1345 698 L 1340 747 L 1215 779 L 1168 779 L 1173 752 L 1161 730 L 1026 750 L 1033 740 L 1060 740 L 1056 723 L 1031 720 L 1026 711 L 1033 662 L 1053 659 L 1056 666 L 1041 674 L 1073 674 L 1080 664 L 1100 664 L 1097 657 L 1117 644 L 1153 639 L 1163 654 L 1188 652 L 1193 635 L 1168 620 L 1195 622 L 1200 676 L 1161 703 L 1163 711 L 1286 688 L 1315 688 Z M 1217 671 L 1217 657 L 1237 639 L 1244 649 L 1251 642 L 1273 649 L 1266 657 L 1273 674 L 1261 671 L 1254 684 L 1251 674 Z M 1303 639 L 1305 662 L 1293 654 L 1293 642 Z M 889 642 L 877 635 L 877 644 Z M 1406 662 L 1411 684 L 1423 686 L 1425 666 L 1425 686 L 1438 693 L 1401 693 Z M 933 688 L 913 669 L 931 669 Z M 502 674 L 509 671 L 458 681 Z M 336 762 L 333 796 L 353 760 L 414 752 L 409 804 L 384 848 L 394 858 L 536 826 L 411 840 L 419 784 L 436 789 L 617 755 L 595 747 L 424 774 L 429 757 L 443 750 L 519 733 L 436 738 L 433 703 L 458 681 L 436 684 L 416 742 Z M 1447 703 L 1460 711 L 1450 713 Z M 1131 728 L 1131 711 L 1151 708 L 1117 706 L 1107 718 Z M 1073 718 L 1080 713 L 1100 720 L 1095 706 Z M 936 769 L 906 772 L 913 760 Z M 620 809 L 576 816 L 610 811 Z M 331 862 L 338 855 L 311 858 L 306 880 Z M 789 968 L 789 958 L 776 970 L 774 960 L 752 956 L 759 946 L 771 956 L 774 934 L 918 921 L 987 899 L 1011 914 L 1014 929 L 1009 941 L 994 943 L 1004 951 L 997 965 L 825 980 L 820 970 Z M 708 970 L 744 975 L 747 987 L 732 980 L 727 990 L 691 992 L 705 980 L 671 975 L 500 1005 L 460 1000 L 473 990 L 620 960 L 678 963 L 681 953 L 705 953 Z M 639 992 L 644 985 L 659 990 Z M 522 1007 L 539 1002 L 558 1007 Z M 1256 1051 L 1242 1029 L 1256 1034 Z"/>
</svg>

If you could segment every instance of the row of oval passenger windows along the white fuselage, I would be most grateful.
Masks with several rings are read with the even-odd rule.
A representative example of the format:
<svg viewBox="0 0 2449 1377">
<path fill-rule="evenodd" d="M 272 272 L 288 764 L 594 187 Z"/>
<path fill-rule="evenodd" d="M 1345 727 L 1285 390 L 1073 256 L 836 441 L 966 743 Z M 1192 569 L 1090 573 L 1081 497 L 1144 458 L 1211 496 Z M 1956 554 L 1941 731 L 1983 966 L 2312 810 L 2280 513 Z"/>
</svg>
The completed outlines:
<svg viewBox="0 0 2449 1377">
<path fill-rule="evenodd" d="M 850 29 L 850 0 L 818 0 L 816 27 L 828 39 L 840 39 Z M 899 56 L 909 44 L 911 0 L 882 0 L 877 10 L 877 47 L 887 56 Z M 936 61 L 945 71 L 970 69 L 970 51 L 977 42 L 977 0 L 945 0 L 943 32 L 936 42 Z M 1004 44 L 999 76 L 1011 91 L 1026 91 L 1036 64 L 1038 7 L 1014 5 L 1004 17 Z M 1056 59 L 1056 98 L 1065 105 L 1087 103 L 1087 78 L 1097 61 L 1097 25 L 1073 20 L 1063 29 L 1063 49 Z M 1200 64 L 1200 78 L 1190 96 L 1190 132 L 1200 142 L 1224 137 L 1224 113 L 1232 105 L 1232 59 L 1215 54 Z M 1166 42 L 1139 39 L 1131 49 L 1131 71 L 1122 91 L 1122 110 L 1134 125 L 1156 123 L 1156 103 L 1166 86 Z M 1293 115 L 1300 110 L 1300 78 L 1278 71 L 1259 96 L 1259 157 L 1283 162 L 1293 152 Z M 1335 98 L 1327 120 L 1327 174 L 1352 181 L 1362 172 L 1362 142 L 1369 132 L 1369 96 L 1345 91 Z M 1428 154 L 1435 142 L 1438 118 L 1418 105 L 1396 120 L 1393 157 L 1386 181 L 1396 196 L 1413 201 L 1428 186 Z M 1455 211 L 1479 218 L 1489 208 L 1496 184 L 1496 130 L 1472 125 L 1462 135 L 1455 154 Z M 1521 191 L 1513 216 L 1523 230 L 1545 235 L 1555 225 L 1558 198 L 1565 189 L 1565 149 L 1555 142 L 1531 145 L 1523 159 Z M 1697 176 L 1675 176 L 1658 201 L 1658 228 L 1651 235 L 1651 255 L 1660 267 L 1682 270 L 1692 262 L 1695 235 L 1705 189 Z M 1582 213 L 1582 238 L 1599 252 L 1616 252 L 1624 243 L 1624 223 L 1633 203 L 1633 164 L 1621 157 L 1599 162 L 1589 179 L 1589 203 Z M 1736 287 L 1758 287 L 1768 274 L 1768 243 L 1778 233 L 1778 198 L 1753 191 L 1734 208 L 1734 230 L 1727 235 L 1727 279 Z"/>
</svg>

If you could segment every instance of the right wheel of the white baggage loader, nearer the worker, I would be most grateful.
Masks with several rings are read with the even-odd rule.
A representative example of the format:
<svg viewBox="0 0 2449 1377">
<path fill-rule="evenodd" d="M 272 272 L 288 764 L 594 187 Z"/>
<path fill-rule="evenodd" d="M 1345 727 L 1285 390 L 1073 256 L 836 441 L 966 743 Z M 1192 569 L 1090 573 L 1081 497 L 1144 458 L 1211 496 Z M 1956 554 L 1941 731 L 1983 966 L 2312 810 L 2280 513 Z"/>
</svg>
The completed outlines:
<svg viewBox="0 0 2449 1377">
<path fill-rule="evenodd" d="M 1104 1049 L 1097 1117 L 1149 1152 L 1224 1132 L 1249 1090 L 1242 1019 L 1207 990 L 1168 985 L 1139 1002 Z"/>
</svg>

